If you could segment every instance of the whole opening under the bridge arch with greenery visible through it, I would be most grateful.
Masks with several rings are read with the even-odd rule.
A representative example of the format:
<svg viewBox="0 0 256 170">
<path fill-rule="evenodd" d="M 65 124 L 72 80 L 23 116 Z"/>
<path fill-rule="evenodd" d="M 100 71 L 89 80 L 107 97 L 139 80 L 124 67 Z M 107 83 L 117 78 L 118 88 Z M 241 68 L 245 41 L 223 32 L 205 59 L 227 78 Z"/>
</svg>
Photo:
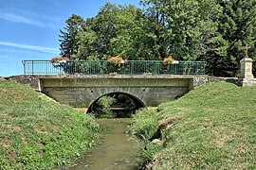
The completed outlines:
<svg viewBox="0 0 256 170">
<path fill-rule="evenodd" d="M 101 95 L 88 108 L 87 113 L 97 118 L 131 117 L 136 110 L 145 104 L 129 93 L 107 93 Z"/>
</svg>

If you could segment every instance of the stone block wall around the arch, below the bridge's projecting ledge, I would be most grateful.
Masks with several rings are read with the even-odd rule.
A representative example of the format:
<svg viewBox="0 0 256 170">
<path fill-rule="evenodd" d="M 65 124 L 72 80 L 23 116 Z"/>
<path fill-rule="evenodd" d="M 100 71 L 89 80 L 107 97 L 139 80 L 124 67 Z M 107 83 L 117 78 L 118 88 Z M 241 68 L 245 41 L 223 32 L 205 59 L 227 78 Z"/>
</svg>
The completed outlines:
<svg viewBox="0 0 256 170">
<path fill-rule="evenodd" d="M 169 88 L 44 88 L 46 95 L 56 101 L 72 105 L 77 108 L 87 108 L 95 100 L 107 93 L 126 93 L 136 98 L 143 106 L 157 106 L 162 102 L 174 100 L 188 93 L 186 87 Z"/>
</svg>

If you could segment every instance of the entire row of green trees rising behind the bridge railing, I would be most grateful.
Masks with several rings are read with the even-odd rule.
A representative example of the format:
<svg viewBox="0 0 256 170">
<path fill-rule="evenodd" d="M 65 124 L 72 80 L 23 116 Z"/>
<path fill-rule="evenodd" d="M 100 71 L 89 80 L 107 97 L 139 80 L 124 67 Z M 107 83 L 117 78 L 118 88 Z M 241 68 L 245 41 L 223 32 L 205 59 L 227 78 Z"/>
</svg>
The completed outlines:
<svg viewBox="0 0 256 170">
<path fill-rule="evenodd" d="M 61 31 L 62 53 L 72 59 L 206 60 L 214 76 L 239 74 L 246 51 L 256 59 L 255 0 L 140 2 L 143 10 L 106 3 L 86 22 L 72 15 Z"/>
</svg>

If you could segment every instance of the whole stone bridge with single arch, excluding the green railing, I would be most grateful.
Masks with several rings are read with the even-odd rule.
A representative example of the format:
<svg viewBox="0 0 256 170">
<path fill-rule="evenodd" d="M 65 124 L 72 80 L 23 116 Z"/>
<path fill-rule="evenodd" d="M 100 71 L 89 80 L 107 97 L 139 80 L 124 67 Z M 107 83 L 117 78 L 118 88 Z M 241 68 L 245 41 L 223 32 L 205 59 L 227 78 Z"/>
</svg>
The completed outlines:
<svg viewBox="0 0 256 170">
<path fill-rule="evenodd" d="M 155 107 L 208 82 L 208 76 L 11 76 L 10 80 L 76 108 L 89 108 L 101 96 L 124 93 L 141 107 Z"/>
</svg>

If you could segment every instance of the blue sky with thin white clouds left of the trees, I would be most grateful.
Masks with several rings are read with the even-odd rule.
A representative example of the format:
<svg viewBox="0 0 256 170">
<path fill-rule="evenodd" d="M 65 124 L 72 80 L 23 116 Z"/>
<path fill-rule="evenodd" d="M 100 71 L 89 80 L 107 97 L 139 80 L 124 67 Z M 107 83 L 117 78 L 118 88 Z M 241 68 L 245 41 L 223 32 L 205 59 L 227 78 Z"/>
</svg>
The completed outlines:
<svg viewBox="0 0 256 170">
<path fill-rule="evenodd" d="M 73 13 L 97 15 L 106 3 L 139 0 L 0 0 L 0 76 L 23 74 L 22 60 L 59 56 L 60 29 Z"/>
</svg>

